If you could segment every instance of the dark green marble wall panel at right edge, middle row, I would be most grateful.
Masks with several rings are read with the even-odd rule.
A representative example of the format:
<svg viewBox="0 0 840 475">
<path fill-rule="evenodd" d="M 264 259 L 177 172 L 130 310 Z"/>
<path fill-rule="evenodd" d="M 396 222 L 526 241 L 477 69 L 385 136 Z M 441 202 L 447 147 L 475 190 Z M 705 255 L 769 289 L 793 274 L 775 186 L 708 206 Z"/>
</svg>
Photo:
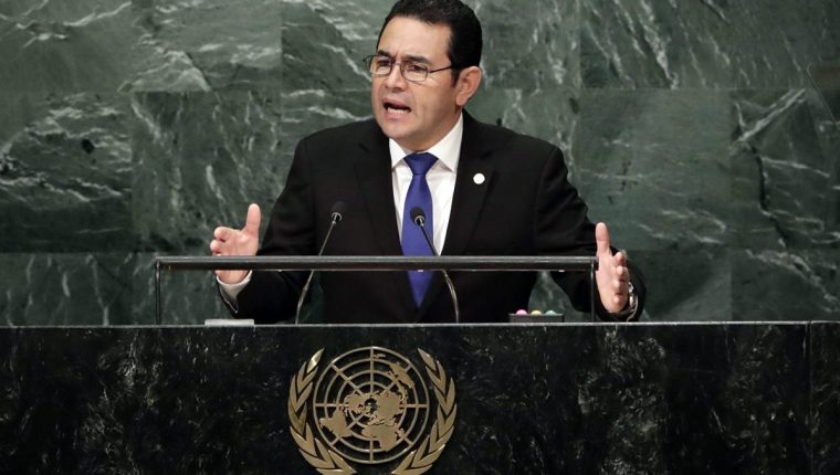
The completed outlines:
<svg viewBox="0 0 840 475">
<path fill-rule="evenodd" d="M 840 247 L 840 129 L 812 89 L 733 93 L 732 243 Z"/>
</svg>

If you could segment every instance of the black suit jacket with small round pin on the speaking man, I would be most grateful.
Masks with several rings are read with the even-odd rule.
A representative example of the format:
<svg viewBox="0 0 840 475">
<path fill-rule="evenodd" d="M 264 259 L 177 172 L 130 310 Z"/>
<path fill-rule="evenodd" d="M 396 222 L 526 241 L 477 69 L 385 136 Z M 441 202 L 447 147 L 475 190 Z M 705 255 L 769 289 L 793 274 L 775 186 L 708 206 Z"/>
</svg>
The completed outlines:
<svg viewBox="0 0 840 475">
<path fill-rule="evenodd" d="M 483 173 L 476 184 L 473 177 Z M 312 255 L 334 203 L 346 203 L 325 255 L 401 255 L 388 138 L 376 122 L 322 130 L 297 146 L 260 255 Z M 543 140 L 482 124 L 464 113 L 458 178 L 444 255 L 592 255 L 595 225 L 567 181 L 560 150 Z M 461 321 L 506 321 L 526 308 L 536 273 L 452 272 Z M 573 305 L 589 309 L 585 273 L 556 273 Z M 254 272 L 238 297 L 238 317 L 276 323 L 294 317 L 305 273 Z M 638 272 L 633 284 L 643 300 Z M 325 272 L 327 323 L 454 321 L 439 273 L 420 308 L 405 272 Z M 596 296 L 596 310 L 606 312 Z M 641 308 L 639 309 L 641 313 Z M 637 314 L 637 315 L 638 315 Z"/>
</svg>

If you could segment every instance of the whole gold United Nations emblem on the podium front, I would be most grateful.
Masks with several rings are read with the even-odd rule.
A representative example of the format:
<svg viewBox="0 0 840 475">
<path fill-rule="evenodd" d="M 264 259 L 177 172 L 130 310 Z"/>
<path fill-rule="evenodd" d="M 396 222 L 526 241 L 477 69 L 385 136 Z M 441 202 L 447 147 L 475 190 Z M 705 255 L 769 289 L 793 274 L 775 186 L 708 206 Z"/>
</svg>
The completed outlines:
<svg viewBox="0 0 840 475">
<path fill-rule="evenodd" d="M 455 383 L 440 362 L 418 349 L 430 387 L 411 360 L 387 348 L 350 350 L 319 370 L 323 353 L 301 367 L 288 391 L 290 429 L 304 458 L 325 475 L 355 474 L 348 461 L 401 458 L 396 475 L 431 468 L 452 436 L 458 411 Z"/>
</svg>

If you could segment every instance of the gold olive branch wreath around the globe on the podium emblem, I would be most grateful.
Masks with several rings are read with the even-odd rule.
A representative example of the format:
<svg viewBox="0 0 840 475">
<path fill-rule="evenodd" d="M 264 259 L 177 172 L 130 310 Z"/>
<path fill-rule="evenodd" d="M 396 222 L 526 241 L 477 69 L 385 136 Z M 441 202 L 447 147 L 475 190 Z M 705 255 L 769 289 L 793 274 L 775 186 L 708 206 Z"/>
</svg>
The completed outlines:
<svg viewBox="0 0 840 475">
<path fill-rule="evenodd" d="M 426 372 L 434 386 L 434 398 L 438 401 L 438 411 L 434 424 L 423 442 L 411 451 L 391 472 L 393 475 L 420 475 L 432 467 L 440 457 L 443 448 L 452 437 L 455 428 L 455 382 L 447 381 L 447 372 L 440 361 L 435 360 L 426 351 L 418 349 L 420 357 L 426 363 Z M 291 422 L 292 437 L 301 455 L 306 458 L 318 473 L 323 475 L 353 475 L 356 471 L 335 451 L 329 450 L 315 434 L 306 422 L 306 401 L 312 395 L 313 380 L 317 373 L 322 348 L 305 362 L 292 378 L 288 389 L 288 421 Z"/>
</svg>

